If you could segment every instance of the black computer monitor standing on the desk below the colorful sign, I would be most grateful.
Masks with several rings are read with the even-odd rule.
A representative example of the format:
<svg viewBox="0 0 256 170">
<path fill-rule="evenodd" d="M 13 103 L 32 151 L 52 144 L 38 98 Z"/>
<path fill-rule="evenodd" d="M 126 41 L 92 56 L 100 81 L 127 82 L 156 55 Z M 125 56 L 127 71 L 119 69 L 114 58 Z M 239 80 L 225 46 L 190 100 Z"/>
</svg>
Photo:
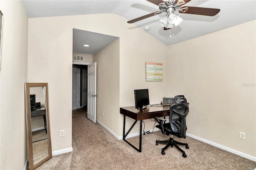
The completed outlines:
<svg viewBox="0 0 256 170">
<path fill-rule="evenodd" d="M 135 108 L 144 110 L 149 105 L 148 89 L 134 90 Z"/>
</svg>

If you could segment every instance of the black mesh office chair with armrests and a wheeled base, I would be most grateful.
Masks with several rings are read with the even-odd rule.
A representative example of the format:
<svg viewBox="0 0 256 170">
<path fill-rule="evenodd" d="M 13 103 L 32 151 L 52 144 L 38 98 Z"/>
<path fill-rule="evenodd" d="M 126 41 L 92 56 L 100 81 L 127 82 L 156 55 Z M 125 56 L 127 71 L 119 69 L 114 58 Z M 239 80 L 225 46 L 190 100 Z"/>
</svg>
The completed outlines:
<svg viewBox="0 0 256 170">
<path fill-rule="evenodd" d="M 156 127 L 160 128 L 163 134 L 172 135 L 169 140 L 156 140 L 156 145 L 158 145 L 158 143 L 167 143 L 167 145 L 162 148 L 162 155 L 165 154 L 164 150 L 166 150 L 169 146 L 175 146 L 178 150 L 180 150 L 180 152 L 182 152 L 182 156 L 184 158 L 187 157 L 184 150 L 182 150 L 178 144 L 184 145 L 186 149 L 189 148 L 188 144 L 174 140 L 173 135 L 177 136 L 178 138 L 186 138 L 186 116 L 188 114 L 188 105 L 189 103 L 186 103 L 185 98 L 184 102 L 171 105 L 169 115 L 170 123 L 165 123 L 166 120 L 160 117 L 155 118 L 159 123 L 159 125 L 156 125 Z"/>
</svg>

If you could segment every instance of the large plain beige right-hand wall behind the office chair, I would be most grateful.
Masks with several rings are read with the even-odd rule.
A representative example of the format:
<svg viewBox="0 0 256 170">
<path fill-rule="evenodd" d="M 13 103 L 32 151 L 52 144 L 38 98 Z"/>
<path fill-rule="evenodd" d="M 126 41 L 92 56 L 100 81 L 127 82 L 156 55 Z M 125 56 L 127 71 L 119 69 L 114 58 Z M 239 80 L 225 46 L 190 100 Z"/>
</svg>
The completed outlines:
<svg viewBox="0 0 256 170">
<path fill-rule="evenodd" d="M 184 94 L 190 103 L 188 133 L 254 157 L 255 28 L 254 20 L 168 46 L 173 74 L 165 84 L 170 96 Z"/>
</svg>

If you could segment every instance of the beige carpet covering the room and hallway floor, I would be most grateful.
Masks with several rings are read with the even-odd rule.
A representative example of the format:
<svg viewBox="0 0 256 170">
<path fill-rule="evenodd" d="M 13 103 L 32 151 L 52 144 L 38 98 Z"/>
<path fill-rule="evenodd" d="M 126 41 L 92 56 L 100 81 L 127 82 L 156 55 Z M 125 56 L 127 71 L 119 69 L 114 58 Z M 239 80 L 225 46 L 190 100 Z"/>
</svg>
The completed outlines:
<svg viewBox="0 0 256 170">
<path fill-rule="evenodd" d="M 188 127 L 189 128 L 189 127 Z M 168 136 L 160 131 L 142 135 L 142 152 L 139 153 L 123 140 L 118 140 L 98 123 L 86 118 L 84 109 L 72 113 L 73 152 L 53 156 L 38 170 L 254 170 L 256 162 L 221 150 L 193 138 L 177 139 L 187 142 L 183 158 L 176 148 L 168 148 L 161 154 L 163 144 L 155 145 L 156 139 Z M 128 139 L 138 143 L 138 136 Z"/>
</svg>

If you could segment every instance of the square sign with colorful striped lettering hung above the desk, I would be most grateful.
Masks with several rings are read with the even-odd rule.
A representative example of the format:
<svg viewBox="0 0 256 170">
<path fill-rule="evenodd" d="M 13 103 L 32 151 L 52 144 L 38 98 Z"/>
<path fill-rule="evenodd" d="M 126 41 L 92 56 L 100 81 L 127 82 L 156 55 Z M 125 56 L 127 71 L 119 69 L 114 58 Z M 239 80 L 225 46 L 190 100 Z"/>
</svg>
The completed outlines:
<svg viewBox="0 0 256 170">
<path fill-rule="evenodd" d="M 146 81 L 163 81 L 163 64 L 146 62 Z"/>
</svg>

